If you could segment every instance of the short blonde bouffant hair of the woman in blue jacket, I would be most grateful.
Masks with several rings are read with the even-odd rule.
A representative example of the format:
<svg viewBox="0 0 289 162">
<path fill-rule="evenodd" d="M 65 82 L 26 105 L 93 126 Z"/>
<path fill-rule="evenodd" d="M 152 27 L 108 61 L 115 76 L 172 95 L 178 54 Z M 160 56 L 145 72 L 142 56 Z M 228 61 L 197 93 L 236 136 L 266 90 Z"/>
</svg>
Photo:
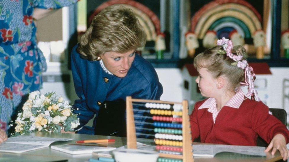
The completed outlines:
<svg viewBox="0 0 289 162">
<path fill-rule="evenodd" d="M 96 61 L 105 52 L 125 53 L 143 47 L 145 42 L 146 34 L 132 10 L 112 5 L 94 16 L 77 52 L 81 58 Z"/>
</svg>

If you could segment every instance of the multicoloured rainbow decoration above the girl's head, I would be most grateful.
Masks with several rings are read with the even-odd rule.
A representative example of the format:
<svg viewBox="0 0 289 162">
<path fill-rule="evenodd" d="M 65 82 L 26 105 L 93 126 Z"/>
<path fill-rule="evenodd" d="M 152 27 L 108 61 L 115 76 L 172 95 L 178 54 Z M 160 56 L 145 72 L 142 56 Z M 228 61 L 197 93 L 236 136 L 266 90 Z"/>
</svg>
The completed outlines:
<svg viewBox="0 0 289 162">
<path fill-rule="evenodd" d="M 191 20 L 191 32 L 203 39 L 208 30 L 217 32 L 217 36 L 228 35 L 232 30 L 244 38 L 251 38 L 261 30 L 261 15 L 244 0 L 215 0 L 203 6 Z"/>
</svg>

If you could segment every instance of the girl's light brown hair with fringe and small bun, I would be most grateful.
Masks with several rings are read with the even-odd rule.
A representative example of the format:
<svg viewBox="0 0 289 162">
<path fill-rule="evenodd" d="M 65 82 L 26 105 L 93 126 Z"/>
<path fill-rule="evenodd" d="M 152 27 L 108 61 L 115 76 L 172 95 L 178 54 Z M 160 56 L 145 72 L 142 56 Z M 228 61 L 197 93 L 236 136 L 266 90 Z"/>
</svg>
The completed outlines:
<svg viewBox="0 0 289 162">
<path fill-rule="evenodd" d="M 240 87 L 240 82 L 244 81 L 245 70 L 237 67 L 232 58 L 226 54 L 220 54 L 218 50 L 223 50 L 223 47 L 208 48 L 203 53 L 198 54 L 194 59 L 194 66 L 196 69 L 207 68 L 214 78 L 225 76 L 230 84 L 230 89 L 234 90 Z M 246 50 L 238 45 L 232 49 L 232 53 L 243 56 Z M 246 59 L 243 57 L 242 60 Z"/>
</svg>

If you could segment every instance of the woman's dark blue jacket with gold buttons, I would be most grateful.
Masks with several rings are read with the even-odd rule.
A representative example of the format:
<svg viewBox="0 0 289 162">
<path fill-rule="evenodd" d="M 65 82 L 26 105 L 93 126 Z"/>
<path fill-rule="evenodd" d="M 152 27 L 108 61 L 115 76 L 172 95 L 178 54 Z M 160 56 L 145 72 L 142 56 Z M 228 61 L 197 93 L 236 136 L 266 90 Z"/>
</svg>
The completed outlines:
<svg viewBox="0 0 289 162">
<path fill-rule="evenodd" d="M 163 94 L 163 86 L 152 65 L 139 55 L 134 61 L 127 75 L 119 78 L 106 73 L 99 61 L 89 61 L 80 58 L 76 45 L 71 53 L 71 70 L 77 96 L 73 107 L 78 108 L 75 113 L 80 119 L 80 127 L 94 118 L 93 127 L 84 126 L 78 133 L 94 134 L 95 122 L 99 112 L 97 102 L 126 100 L 126 96 L 135 99 L 159 100 Z M 105 79 L 106 78 L 106 79 Z M 105 80 L 108 79 L 106 83 Z"/>
</svg>

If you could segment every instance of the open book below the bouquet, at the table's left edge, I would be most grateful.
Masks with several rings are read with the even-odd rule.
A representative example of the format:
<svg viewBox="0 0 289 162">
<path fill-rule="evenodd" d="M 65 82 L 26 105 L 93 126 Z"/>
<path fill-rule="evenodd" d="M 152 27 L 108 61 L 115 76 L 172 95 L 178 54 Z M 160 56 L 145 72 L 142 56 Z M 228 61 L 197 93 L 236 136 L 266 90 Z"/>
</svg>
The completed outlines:
<svg viewBox="0 0 289 162">
<path fill-rule="evenodd" d="M 8 138 L 5 142 L 1 143 L 1 152 L 10 153 L 23 153 L 30 150 L 49 147 L 49 145 L 56 141 L 69 141 L 74 138 L 48 138 L 37 137 L 30 135 L 19 135 L 16 137 Z"/>
</svg>

